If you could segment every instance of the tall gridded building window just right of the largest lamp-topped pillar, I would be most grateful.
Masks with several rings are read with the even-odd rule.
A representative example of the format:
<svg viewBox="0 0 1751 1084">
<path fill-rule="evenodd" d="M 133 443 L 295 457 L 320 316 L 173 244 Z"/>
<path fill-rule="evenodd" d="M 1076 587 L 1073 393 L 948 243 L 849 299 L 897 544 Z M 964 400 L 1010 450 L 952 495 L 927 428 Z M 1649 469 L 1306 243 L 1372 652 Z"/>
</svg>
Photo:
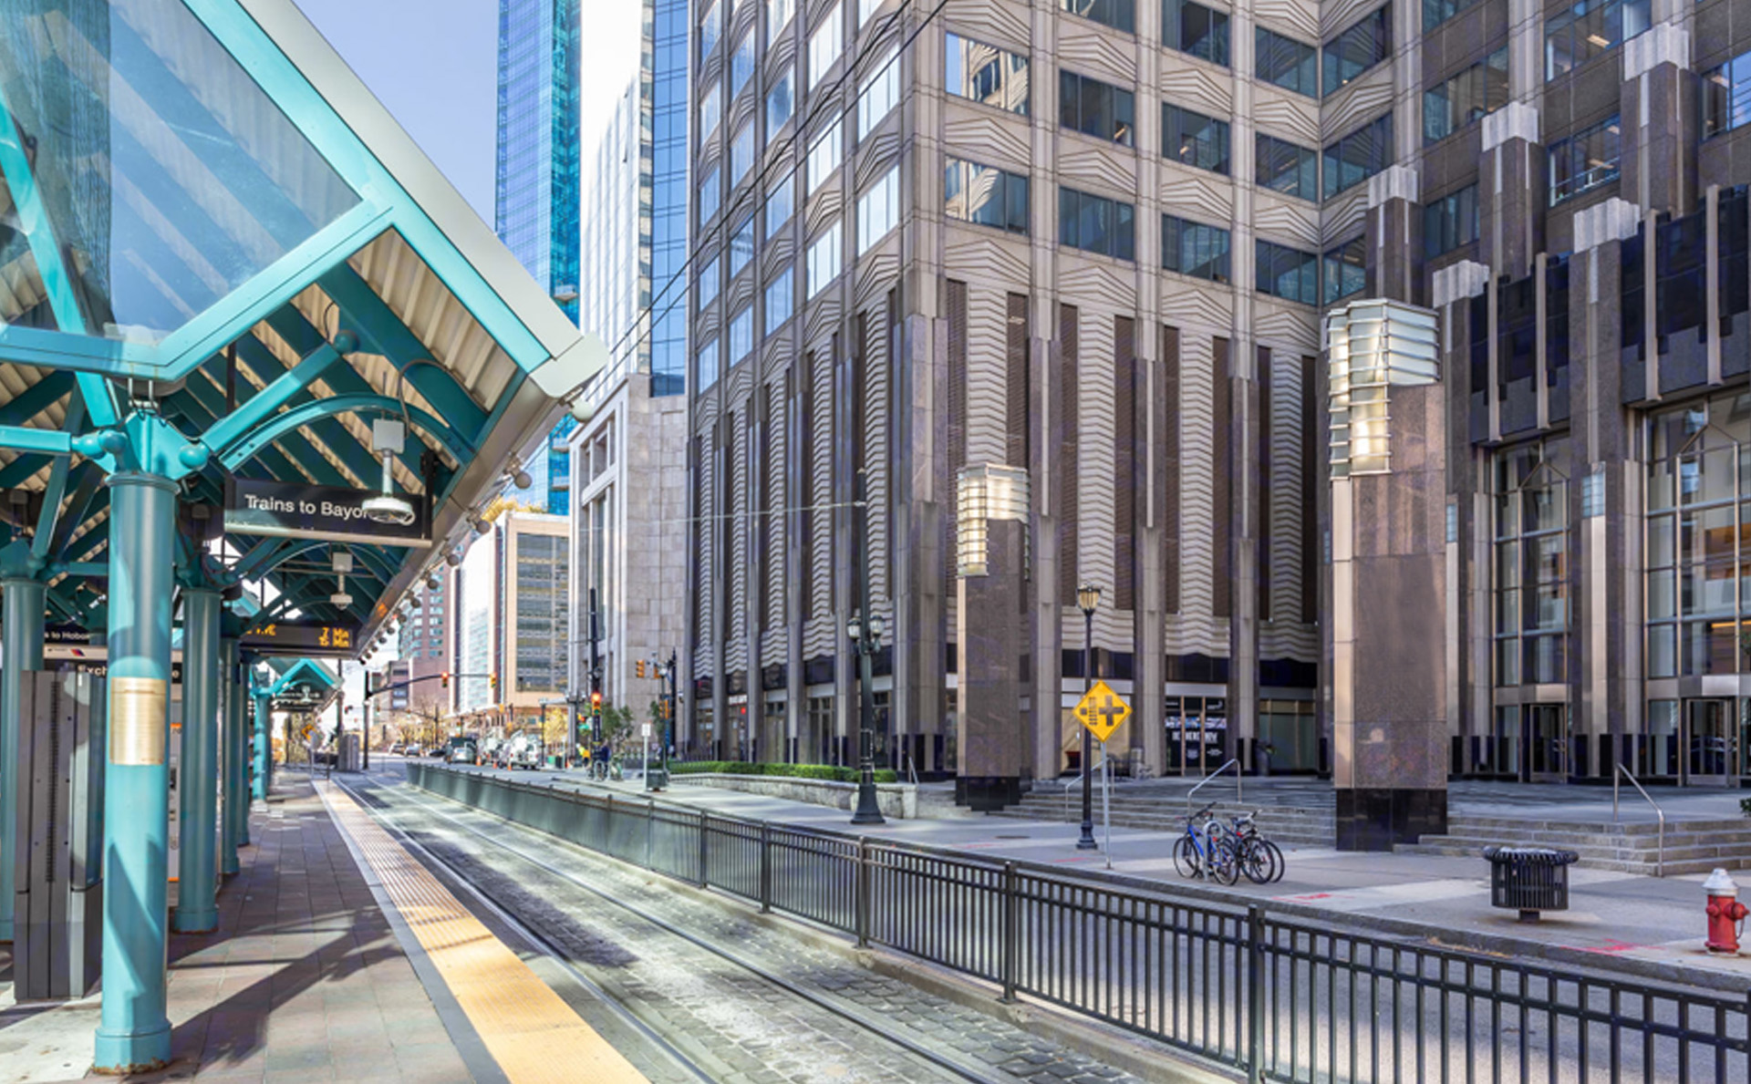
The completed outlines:
<svg viewBox="0 0 1751 1084">
<path fill-rule="evenodd" d="M 1495 685 L 1567 681 L 1564 440 L 1495 454 Z"/>
</svg>

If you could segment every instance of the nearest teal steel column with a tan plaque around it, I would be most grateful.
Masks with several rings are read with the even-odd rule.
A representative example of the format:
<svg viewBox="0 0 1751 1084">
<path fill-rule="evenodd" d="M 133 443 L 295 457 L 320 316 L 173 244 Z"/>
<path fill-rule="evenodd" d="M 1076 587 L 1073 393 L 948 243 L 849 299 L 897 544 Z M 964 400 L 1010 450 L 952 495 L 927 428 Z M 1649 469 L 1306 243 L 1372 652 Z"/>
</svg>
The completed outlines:
<svg viewBox="0 0 1751 1084">
<path fill-rule="evenodd" d="M 170 1063 L 170 604 L 177 485 L 124 471 L 110 487 L 109 778 L 103 802 L 103 1005 L 95 1066 Z"/>
</svg>

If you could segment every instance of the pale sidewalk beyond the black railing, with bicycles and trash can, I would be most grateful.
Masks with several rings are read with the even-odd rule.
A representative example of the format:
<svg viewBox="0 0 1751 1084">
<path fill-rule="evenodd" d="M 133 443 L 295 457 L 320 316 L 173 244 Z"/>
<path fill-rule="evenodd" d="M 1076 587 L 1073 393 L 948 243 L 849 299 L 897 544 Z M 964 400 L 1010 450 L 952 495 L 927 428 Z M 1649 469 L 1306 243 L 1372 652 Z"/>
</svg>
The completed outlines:
<svg viewBox="0 0 1751 1084">
<path fill-rule="evenodd" d="M 494 772 L 503 774 L 503 772 Z M 578 772 L 517 772 L 522 783 L 609 786 L 643 795 L 641 781 L 583 783 Z M 786 799 L 767 799 L 704 785 L 679 783 L 665 792 L 683 802 L 749 820 L 853 832 L 849 814 Z M 1252 795 L 1248 795 L 1250 799 Z M 1506 806 L 1511 795 L 1476 795 L 1481 806 Z M 1585 799 L 1578 799 L 1585 800 Z M 1597 799 L 1595 799 L 1597 800 Z M 1609 802 L 1609 795 L 1606 795 Z M 1718 804 L 1718 799 L 1711 804 Z M 1522 813 L 1527 813 L 1522 809 Z M 1700 814 L 1700 809 L 1698 809 Z M 1096 809 L 1096 839 L 1101 839 Z M 1077 825 L 1028 821 L 963 813 L 942 820 L 888 821 L 863 828 L 872 839 L 895 839 L 940 848 L 960 848 L 988 858 L 1016 858 L 1065 867 L 1107 869 L 1101 851 L 1077 851 Z M 1112 872 L 1194 895 L 1212 895 L 1234 904 L 1271 900 L 1285 911 L 1311 918 L 1343 916 L 1347 925 L 1383 932 L 1417 933 L 1457 946 L 1523 954 L 1525 942 L 1555 949 L 1555 954 L 1602 954 L 1646 977 L 1683 979 L 1746 991 L 1751 988 L 1751 953 L 1716 956 L 1702 947 L 1705 900 L 1704 876 L 1644 877 L 1593 869 L 1569 869 L 1569 911 L 1546 912 L 1539 923 L 1522 923 L 1513 911 L 1490 907 L 1488 863 L 1476 858 L 1432 855 L 1355 853 L 1329 848 L 1285 848 L 1289 872 L 1276 884 L 1241 881 L 1233 888 L 1184 881 L 1173 870 L 1177 834 L 1112 830 Z M 1751 898 L 1751 874 L 1739 874 Z M 1606 965 L 1609 967 L 1609 965 Z"/>
</svg>

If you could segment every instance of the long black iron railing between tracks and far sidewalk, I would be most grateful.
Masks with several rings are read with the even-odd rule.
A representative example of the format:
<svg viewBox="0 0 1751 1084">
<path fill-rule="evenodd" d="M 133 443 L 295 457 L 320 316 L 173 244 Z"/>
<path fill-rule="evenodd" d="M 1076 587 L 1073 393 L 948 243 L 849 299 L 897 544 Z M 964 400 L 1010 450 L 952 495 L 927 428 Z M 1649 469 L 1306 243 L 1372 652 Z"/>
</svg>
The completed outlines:
<svg viewBox="0 0 1751 1084">
<path fill-rule="evenodd" d="M 410 764 L 415 786 L 1250 1080 L 1751 1080 L 1751 995 L 1331 930 L 1026 862 Z"/>
</svg>

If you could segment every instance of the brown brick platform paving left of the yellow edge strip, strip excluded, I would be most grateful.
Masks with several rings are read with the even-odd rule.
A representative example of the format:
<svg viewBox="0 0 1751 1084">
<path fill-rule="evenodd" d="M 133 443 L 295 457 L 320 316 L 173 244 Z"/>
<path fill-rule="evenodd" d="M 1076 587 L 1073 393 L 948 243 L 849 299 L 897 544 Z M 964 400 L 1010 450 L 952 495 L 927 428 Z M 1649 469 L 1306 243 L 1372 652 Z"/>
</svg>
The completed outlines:
<svg viewBox="0 0 1751 1084">
<path fill-rule="evenodd" d="M 459 1052 L 452 1030 L 466 1040 L 466 1019 L 427 996 L 310 783 L 292 772 L 275 783 L 219 893 L 219 930 L 172 933 L 173 1061 L 130 1079 L 503 1079 L 490 1058 Z M 0 949 L 0 1084 L 114 1079 L 86 1073 L 98 996 L 19 1007 L 9 968 Z"/>
</svg>

